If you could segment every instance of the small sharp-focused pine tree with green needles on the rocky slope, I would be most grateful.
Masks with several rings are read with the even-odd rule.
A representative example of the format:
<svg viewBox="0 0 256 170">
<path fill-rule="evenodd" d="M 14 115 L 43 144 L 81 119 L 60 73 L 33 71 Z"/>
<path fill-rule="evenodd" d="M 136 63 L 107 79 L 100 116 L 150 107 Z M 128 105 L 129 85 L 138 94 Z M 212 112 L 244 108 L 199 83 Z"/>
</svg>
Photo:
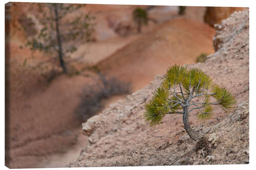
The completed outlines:
<svg viewBox="0 0 256 170">
<path fill-rule="evenodd" d="M 218 105 L 228 112 L 228 109 L 236 104 L 234 96 L 225 88 L 212 83 L 210 77 L 203 71 L 198 68 L 188 71 L 186 67 L 179 65 L 167 70 L 162 85 L 153 95 L 146 104 L 144 113 L 146 122 L 155 126 L 161 122 L 165 114 L 182 114 L 187 134 L 196 141 L 200 141 L 204 135 L 190 127 L 188 123 L 190 112 L 198 110 L 198 118 L 204 120 L 212 115 L 211 105 Z"/>
</svg>

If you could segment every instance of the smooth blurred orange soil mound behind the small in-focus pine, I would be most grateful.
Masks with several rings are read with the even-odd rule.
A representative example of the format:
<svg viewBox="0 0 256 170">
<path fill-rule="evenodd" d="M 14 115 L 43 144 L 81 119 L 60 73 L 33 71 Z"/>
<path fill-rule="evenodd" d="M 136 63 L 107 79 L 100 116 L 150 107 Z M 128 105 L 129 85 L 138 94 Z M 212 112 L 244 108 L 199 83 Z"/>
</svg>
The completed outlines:
<svg viewBox="0 0 256 170">
<path fill-rule="evenodd" d="M 164 74 L 173 64 L 196 61 L 201 53 L 212 54 L 215 30 L 199 21 L 170 20 L 143 37 L 126 45 L 97 66 L 103 72 L 131 81 L 133 91 Z"/>
</svg>

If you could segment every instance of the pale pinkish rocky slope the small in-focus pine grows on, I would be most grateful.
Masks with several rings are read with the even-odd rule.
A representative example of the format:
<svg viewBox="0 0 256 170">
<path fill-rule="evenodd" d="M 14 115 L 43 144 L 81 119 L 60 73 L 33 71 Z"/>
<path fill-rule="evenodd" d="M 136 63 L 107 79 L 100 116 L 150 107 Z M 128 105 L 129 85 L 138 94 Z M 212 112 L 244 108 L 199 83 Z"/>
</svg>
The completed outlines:
<svg viewBox="0 0 256 170">
<path fill-rule="evenodd" d="M 238 106 L 228 116 L 216 108 L 214 117 L 190 122 L 198 129 L 209 129 L 210 153 L 198 151 L 189 164 L 239 164 L 249 162 L 249 12 L 234 12 L 216 27 L 215 54 L 205 63 L 191 64 L 208 74 L 215 83 L 236 96 Z M 166 115 L 162 124 L 150 128 L 144 122 L 144 105 L 163 76 L 124 100 L 117 102 L 83 124 L 89 144 L 69 167 L 168 165 L 195 142 L 185 133 L 181 115 Z M 186 159 L 176 165 L 185 164 Z"/>
</svg>

